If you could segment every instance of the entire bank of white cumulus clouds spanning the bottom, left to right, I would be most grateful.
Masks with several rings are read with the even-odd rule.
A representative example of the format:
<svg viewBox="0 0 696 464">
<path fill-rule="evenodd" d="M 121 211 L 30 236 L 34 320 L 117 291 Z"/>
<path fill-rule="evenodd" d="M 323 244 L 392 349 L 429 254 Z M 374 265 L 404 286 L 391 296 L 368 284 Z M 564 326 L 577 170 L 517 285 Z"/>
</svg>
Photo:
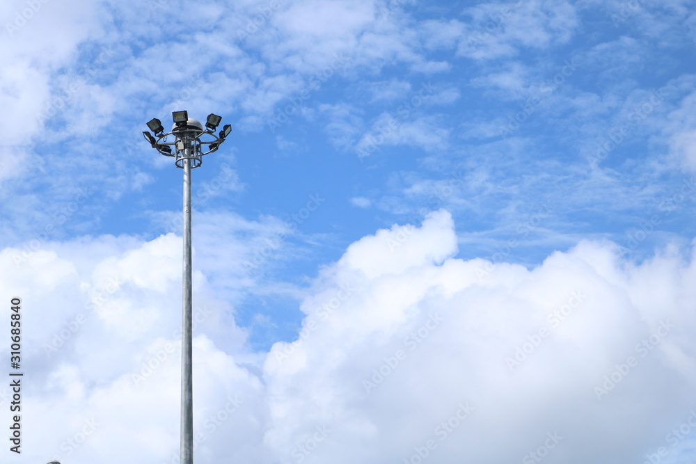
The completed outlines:
<svg viewBox="0 0 696 464">
<path fill-rule="evenodd" d="M 92 239 L 19 264 L 0 253 L 32 374 L 17 462 L 176 462 L 178 240 Z M 672 429 L 694 406 L 693 255 L 635 264 L 583 241 L 526 269 L 456 254 L 444 210 L 363 237 L 308 289 L 297 338 L 260 357 L 233 321 L 216 319 L 239 340 L 224 347 L 203 322 L 197 461 L 642 462 L 665 447 L 683 462 L 693 443 Z"/>
</svg>

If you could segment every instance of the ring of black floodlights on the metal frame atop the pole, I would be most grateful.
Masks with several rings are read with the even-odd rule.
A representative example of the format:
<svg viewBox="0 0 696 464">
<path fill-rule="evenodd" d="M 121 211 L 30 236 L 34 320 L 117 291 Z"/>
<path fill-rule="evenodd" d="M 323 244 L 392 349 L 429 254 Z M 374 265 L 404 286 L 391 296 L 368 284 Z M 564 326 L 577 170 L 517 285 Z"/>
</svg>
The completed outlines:
<svg viewBox="0 0 696 464">
<path fill-rule="evenodd" d="M 220 144 L 232 132 L 232 126 L 228 124 L 223 126 L 219 134 L 215 134 L 222 120 L 221 116 L 216 114 L 208 115 L 205 121 L 205 129 L 203 129 L 203 125 L 198 120 L 189 118 L 187 111 L 174 111 L 172 118 L 174 125 L 171 131 L 165 133 L 162 122 L 155 118 L 148 122 L 148 127 L 155 135 L 153 136 L 149 131 L 143 131 L 143 136 L 152 145 L 152 148 L 155 148 L 164 156 L 175 157 L 176 165 L 180 168 L 184 167 L 184 159 L 191 160 L 191 168 L 198 168 L 202 163 L 200 157 L 217 150 Z M 175 140 L 168 142 L 167 137 L 171 135 L 174 136 Z M 203 140 L 203 136 L 207 136 L 208 140 Z M 205 150 L 203 145 L 207 145 L 207 150 Z M 174 151 L 172 151 L 172 148 L 174 148 Z"/>
</svg>

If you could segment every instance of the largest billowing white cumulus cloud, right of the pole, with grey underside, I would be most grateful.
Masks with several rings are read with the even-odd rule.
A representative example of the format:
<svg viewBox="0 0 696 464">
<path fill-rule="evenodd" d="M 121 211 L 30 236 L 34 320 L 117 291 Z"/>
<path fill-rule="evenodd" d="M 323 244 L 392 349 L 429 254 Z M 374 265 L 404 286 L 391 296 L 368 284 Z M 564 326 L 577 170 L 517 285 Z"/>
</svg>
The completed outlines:
<svg viewBox="0 0 696 464">
<path fill-rule="evenodd" d="M 428 440 L 437 462 L 514 462 L 547 433 L 561 437 L 549 463 L 631 462 L 665 446 L 696 372 L 694 290 L 672 282 L 696 267 L 673 251 L 627 265 L 590 242 L 531 271 L 446 259 L 450 227 L 439 214 L 380 231 L 326 269 L 301 337 L 267 359 L 269 445 L 290 450 L 326 426 L 308 462 L 408 461 Z M 473 408 L 464 420 L 460 405 Z"/>
</svg>

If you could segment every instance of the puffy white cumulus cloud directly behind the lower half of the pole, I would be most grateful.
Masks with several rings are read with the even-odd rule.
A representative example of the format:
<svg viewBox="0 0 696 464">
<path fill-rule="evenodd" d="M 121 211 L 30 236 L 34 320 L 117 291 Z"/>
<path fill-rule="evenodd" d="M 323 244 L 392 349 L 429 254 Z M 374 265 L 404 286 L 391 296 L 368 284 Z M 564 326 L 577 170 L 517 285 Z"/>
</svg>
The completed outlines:
<svg viewBox="0 0 696 464">
<path fill-rule="evenodd" d="M 100 237 L 45 248 L 50 249 L 0 253 L 3 300 L 22 298 L 24 446 L 13 462 L 100 461 L 109 455 L 174 462 L 180 237 L 168 234 L 144 243 Z M 245 331 L 229 317 L 228 305 L 206 290 L 200 271 L 194 281 L 196 424 L 201 432 L 208 429 L 200 452 L 215 455 L 206 451 L 209 444 L 235 434 L 228 417 L 263 417 L 263 408 L 256 410 L 263 387 L 241 366 Z M 7 305 L 2 317 L 10 319 Z M 203 334 L 219 339 L 214 326 L 221 321 L 226 322 L 222 347 Z M 2 354 L 9 356 L 6 348 Z M 3 408 L 11 394 L 7 386 L 0 388 Z M 238 443 L 239 449 L 248 446 L 251 442 Z"/>
</svg>

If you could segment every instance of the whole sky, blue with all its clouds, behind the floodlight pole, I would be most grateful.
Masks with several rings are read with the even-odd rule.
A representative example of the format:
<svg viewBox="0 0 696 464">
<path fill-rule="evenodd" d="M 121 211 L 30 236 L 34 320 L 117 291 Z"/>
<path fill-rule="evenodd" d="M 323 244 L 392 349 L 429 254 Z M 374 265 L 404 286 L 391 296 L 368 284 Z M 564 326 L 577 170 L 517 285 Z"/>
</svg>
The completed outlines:
<svg viewBox="0 0 696 464">
<path fill-rule="evenodd" d="M 201 390 L 223 398 L 246 392 L 245 417 L 255 424 L 225 422 L 225 434 L 239 429 L 245 439 L 211 434 L 200 461 L 235 449 L 254 462 L 340 462 L 356 444 L 362 451 L 352 462 L 408 461 L 428 440 L 422 430 L 438 422 L 431 415 L 446 419 L 466 403 L 445 401 L 451 395 L 442 382 L 461 381 L 482 419 L 474 422 L 474 413 L 456 444 L 432 449 L 434 462 L 524 460 L 522 450 L 537 449 L 556 429 L 597 445 L 585 451 L 567 438 L 555 454 L 546 450 L 548 462 L 640 462 L 663 445 L 670 453 L 661 462 L 686 462 L 677 451 L 690 452 L 690 439 L 672 448 L 665 434 L 696 407 L 686 394 L 696 378 L 687 329 L 696 323 L 693 7 L 686 0 L 3 2 L 3 298 L 22 296 L 35 314 L 26 329 L 27 370 L 38 379 L 29 397 L 64 408 L 37 399 L 36 410 L 45 406 L 56 420 L 69 415 L 76 433 L 86 411 L 111 424 L 67 456 L 63 438 L 28 429 L 46 444 L 28 440 L 31 458 L 82 463 L 116 449 L 107 435 L 130 435 L 105 405 L 128 403 L 120 382 L 177 343 L 182 172 L 141 131 L 151 118 L 167 126 L 171 111 L 186 109 L 199 120 L 222 115 L 234 127 L 193 171 L 194 300 L 214 309 L 197 328 L 196 346 L 219 360 L 205 368 L 219 385 L 200 380 Z M 118 283 L 85 314 L 89 323 L 47 352 L 109 279 Z M 347 282 L 361 289 L 346 291 Z M 349 297 L 337 303 L 338 315 L 313 329 L 340 291 Z M 547 306 L 562 307 L 574 291 L 590 295 L 581 303 L 587 319 L 541 345 L 545 364 L 525 365 L 524 377 L 505 371 L 505 353 L 538 334 Z M 411 385 L 403 394 L 367 389 L 354 397 L 337 386 L 357 378 L 360 387 L 365 372 L 403 349 L 406 327 L 417 329 L 443 308 L 452 326 L 414 351 L 422 360 L 400 369 L 400 382 Z M 601 383 L 667 319 L 677 328 L 639 364 L 632 386 L 612 394 L 615 403 L 593 396 L 592 387 L 583 390 L 590 398 L 572 394 L 571 385 Z M 100 367 L 99 353 L 124 337 L 130 346 L 118 351 L 121 360 Z M 278 358 L 288 347 L 292 364 Z M 177 378 L 173 353 L 171 366 L 143 388 L 155 392 Z M 562 353 L 574 369 L 549 367 Z M 432 369 L 435 383 L 413 380 L 422 369 Z M 566 369 L 575 383 L 558 378 Z M 671 386 L 649 380 L 658 377 L 672 378 Z M 61 390 L 56 378 L 74 387 Z M 533 393 L 541 379 L 552 399 Z M 298 398 L 300 385 L 307 394 Z M 511 413 L 503 450 L 477 435 L 503 414 L 494 391 L 527 395 L 535 405 Z M 655 399 L 665 395 L 670 401 Z M 418 407 L 397 419 L 394 410 L 414 399 Z M 585 407 L 574 410 L 571 401 Z M 635 403 L 642 415 L 622 417 L 621 405 Z M 148 410 L 143 430 L 158 438 L 132 452 L 166 462 L 176 428 L 163 406 Z M 544 413 L 521 433 L 534 411 Z M 642 429 L 631 432 L 635 440 L 587 433 L 601 417 L 624 427 L 622 435 L 635 424 Z M 384 435 L 394 422 L 400 438 Z M 311 439 L 308 430 L 325 424 L 334 432 L 316 452 L 294 452 Z"/>
</svg>

